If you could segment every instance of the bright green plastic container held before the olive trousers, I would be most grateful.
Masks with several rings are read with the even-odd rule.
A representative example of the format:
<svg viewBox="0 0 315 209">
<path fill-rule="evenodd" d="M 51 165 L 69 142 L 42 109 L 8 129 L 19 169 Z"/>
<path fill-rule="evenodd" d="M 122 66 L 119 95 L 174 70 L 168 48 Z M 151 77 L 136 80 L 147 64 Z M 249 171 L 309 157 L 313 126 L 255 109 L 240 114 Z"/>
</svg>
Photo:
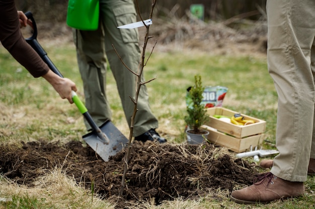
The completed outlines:
<svg viewBox="0 0 315 209">
<path fill-rule="evenodd" d="M 69 27 L 94 31 L 99 26 L 99 0 L 69 0 L 66 23 Z"/>
</svg>

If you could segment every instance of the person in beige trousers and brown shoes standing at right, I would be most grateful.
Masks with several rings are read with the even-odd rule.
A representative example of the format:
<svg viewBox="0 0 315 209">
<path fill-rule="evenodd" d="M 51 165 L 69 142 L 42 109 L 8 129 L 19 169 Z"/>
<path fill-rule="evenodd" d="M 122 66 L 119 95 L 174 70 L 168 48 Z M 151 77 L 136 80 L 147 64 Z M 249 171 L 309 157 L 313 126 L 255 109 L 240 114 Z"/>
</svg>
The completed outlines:
<svg viewBox="0 0 315 209">
<path fill-rule="evenodd" d="M 303 195 L 315 173 L 315 1 L 267 0 L 268 70 L 278 93 L 276 146 L 264 160 L 272 167 L 255 184 L 235 190 L 238 203 L 270 202 Z"/>
</svg>

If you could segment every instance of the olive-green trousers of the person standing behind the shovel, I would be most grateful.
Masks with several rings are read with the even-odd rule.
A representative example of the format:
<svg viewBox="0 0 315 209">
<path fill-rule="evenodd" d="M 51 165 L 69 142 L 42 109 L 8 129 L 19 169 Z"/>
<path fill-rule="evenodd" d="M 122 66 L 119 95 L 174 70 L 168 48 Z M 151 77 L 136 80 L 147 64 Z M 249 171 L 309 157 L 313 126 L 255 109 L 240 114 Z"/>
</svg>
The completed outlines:
<svg viewBox="0 0 315 209">
<path fill-rule="evenodd" d="M 116 80 L 122 107 L 130 127 L 135 97 L 136 76 L 122 64 L 114 51 L 115 47 L 123 62 L 137 72 L 140 61 L 137 29 L 117 29 L 117 26 L 136 22 L 132 0 L 100 0 L 100 24 L 96 31 L 74 30 L 77 63 L 84 85 L 86 107 L 97 125 L 112 118 L 106 97 L 106 57 Z M 142 81 L 143 75 L 142 75 Z M 110 89 L 107 89 L 110 91 Z M 157 128 L 148 102 L 145 85 L 141 86 L 134 124 L 134 136 L 151 128 Z M 90 128 L 85 121 L 87 129 Z"/>
</svg>

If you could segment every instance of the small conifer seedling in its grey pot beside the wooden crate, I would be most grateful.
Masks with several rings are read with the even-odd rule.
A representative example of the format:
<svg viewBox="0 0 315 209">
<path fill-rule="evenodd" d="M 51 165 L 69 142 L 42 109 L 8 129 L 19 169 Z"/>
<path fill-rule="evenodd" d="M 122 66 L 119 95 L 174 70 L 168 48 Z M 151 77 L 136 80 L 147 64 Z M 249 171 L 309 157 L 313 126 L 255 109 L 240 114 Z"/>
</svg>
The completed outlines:
<svg viewBox="0 0 315 209">
<path fill-rule="evenodd" d="M 188 126 L 186 130 L 187 141 L 190 144 L 201 144 L 207 137 L 209 132 L 201 129 L 201 126 L 207 121 L 208 116 L 203 104 L 202 93 L 204 87 L 202 86 L 201 76 L 195 76 L 195 85 L 189 88 L 188 91 L 188 103 L 187 103 L 187 115 L 184 120 Z"/>
</svg>

